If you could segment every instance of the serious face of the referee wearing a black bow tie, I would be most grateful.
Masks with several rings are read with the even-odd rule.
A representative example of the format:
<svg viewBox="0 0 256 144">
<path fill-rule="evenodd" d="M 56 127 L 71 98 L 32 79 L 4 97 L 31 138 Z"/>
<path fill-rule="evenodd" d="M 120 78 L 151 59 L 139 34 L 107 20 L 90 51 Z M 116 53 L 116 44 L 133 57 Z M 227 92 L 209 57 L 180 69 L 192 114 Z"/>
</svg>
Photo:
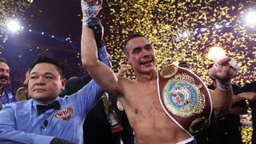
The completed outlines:
<svg viewBox="0 0 256 144">
<path fill-rule="evenodd" d="M 56 66 L 50 63 L 38 63 L 30 71 L 28 82 L 29 96 L 38 102 L 47 104 L 58 97 L 65 88 L 65 79 L 62 79 Z"/>
</svg>

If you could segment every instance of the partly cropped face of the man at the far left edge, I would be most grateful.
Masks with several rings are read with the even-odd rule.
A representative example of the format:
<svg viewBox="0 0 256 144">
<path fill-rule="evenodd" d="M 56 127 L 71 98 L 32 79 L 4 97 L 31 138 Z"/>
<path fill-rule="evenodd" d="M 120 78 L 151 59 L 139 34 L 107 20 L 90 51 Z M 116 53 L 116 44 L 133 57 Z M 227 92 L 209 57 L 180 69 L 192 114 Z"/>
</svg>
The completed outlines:
<svg viewBox="0 0 256 144">
<path fill-rule="evenodd" d="M 0 86 L 6 85 L 10 77 L 10 68 L 4 63 L 0 62 Z"/>
</svg>

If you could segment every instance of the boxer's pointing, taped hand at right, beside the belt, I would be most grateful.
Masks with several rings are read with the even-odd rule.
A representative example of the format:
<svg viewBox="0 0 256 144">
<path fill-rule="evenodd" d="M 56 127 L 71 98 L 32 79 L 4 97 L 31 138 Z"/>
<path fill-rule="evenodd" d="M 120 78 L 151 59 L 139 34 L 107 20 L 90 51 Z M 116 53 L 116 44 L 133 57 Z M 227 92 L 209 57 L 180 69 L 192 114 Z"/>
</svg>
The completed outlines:
<svg viewBox="0 0 256 144">
<path fill-rule="evenodd" d="M 236 69 L 234 69 L 234 66 L 236 66 Z M 222 90 L 230 90 L 230 80 L 231 78 L 234 78 L 238 73 L 237 66 L 238 65 L 236 64 L 236 62 L 231 61 L 231 58 L 221 58 L 214 63 L 214 66 L 212 68 L 210 68 L 209 74 L 211 77 L 216 79 L 218 87 L 220 87 Z"/>
</svg>

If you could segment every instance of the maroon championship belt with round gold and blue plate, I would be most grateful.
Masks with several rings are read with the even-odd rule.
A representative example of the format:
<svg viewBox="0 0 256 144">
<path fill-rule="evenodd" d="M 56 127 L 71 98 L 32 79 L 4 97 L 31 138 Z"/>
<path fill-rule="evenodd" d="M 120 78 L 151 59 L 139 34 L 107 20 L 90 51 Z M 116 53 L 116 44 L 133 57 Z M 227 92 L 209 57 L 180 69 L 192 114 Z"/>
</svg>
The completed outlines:
<svg viewBox="0 0 256 144">
<path fill-rule="evenodd" d="M 190 70 L 174 65 L 160 70 L 158 98 L 166 114 L 186 133 L 197 133 L 210 125 L 210 93 Z"/>
</svg>

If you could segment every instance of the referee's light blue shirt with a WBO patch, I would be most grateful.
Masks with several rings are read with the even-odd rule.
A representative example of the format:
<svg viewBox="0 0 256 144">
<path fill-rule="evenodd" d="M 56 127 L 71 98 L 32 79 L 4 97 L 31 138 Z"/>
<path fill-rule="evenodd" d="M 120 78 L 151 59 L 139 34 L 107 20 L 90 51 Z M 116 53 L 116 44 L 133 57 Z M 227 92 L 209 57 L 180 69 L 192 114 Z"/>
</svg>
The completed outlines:
<svg viewBox="0 0 256 144">
<path fill-rule="evenodd" d="M 106 49 L 98 53 L 107 63 Z M 101 96 L 102 90 L 92 80 L 77 93 L 56 98 L 54 101 L 60 103 L 60 110 L 50 109 L 39 115 L 36 109 L 39 103 L 34 99 L 6 104 L 0 111 L 0 143 L 49 144 L 57 137 L 82 144 L 82 124 Z"/>
</svg>

